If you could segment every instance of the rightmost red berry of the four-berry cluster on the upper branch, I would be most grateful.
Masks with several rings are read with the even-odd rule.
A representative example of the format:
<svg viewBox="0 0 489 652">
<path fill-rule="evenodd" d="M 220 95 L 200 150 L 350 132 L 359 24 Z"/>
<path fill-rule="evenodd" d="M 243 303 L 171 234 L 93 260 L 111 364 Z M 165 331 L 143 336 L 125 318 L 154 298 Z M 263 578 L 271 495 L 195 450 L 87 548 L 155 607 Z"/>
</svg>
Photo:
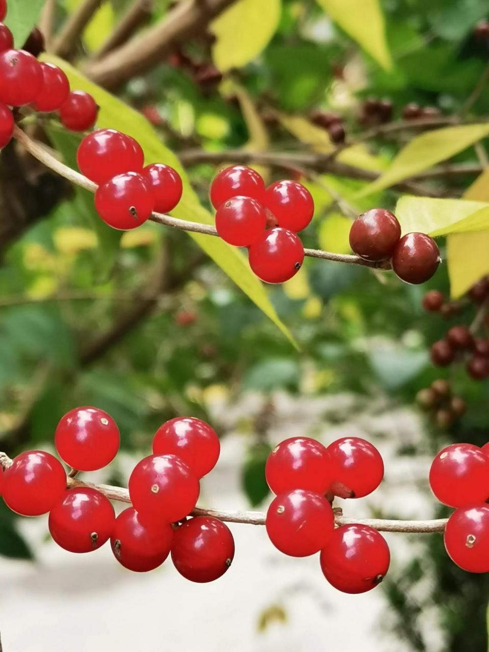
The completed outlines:
<svg viewBox="0 0 489 652">
<path fill-rule="evenodd" d="M 295 233 L 305 229 L 314 215 L 314 200 L 308 189 L 297 181 L 276 181 L 267 188 L 265 201 L 278 226 Z"/>
</svg>

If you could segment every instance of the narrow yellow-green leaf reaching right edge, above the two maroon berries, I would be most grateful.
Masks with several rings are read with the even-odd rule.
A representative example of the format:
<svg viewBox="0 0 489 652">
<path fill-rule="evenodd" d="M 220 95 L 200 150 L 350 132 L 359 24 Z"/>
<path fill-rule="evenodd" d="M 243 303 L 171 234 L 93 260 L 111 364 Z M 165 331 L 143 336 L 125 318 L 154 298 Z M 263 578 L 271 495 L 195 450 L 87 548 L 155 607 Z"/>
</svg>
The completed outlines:
<svg viewBox="0 0 489 652">
<path fill-rule="evenodd" d="M 489 134 L 489 125 L 448 126 L 413 138 L 394 158 L 389 169 L 359 196 L 384 190 L 458 154 Z"/>
</svg>

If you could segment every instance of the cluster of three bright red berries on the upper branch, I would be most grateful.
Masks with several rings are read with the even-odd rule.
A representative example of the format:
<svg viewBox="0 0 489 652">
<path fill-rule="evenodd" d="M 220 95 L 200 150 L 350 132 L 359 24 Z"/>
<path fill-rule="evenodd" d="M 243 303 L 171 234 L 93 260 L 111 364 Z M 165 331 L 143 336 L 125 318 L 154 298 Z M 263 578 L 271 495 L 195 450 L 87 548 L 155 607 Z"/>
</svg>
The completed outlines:
<svg viewBox="0 0 489 652">
<path fill-rule="evenodd" d="M 115 229 L 135 229 L 153 211 L 168 213 L 181 199 L 179 174 L 162 163 L 144 167 L 138 141 L 115 129 L 98 129 L 85 136 L 77 160 L 85 177 L 98 184 L 98 215 Z"/>
</svg>

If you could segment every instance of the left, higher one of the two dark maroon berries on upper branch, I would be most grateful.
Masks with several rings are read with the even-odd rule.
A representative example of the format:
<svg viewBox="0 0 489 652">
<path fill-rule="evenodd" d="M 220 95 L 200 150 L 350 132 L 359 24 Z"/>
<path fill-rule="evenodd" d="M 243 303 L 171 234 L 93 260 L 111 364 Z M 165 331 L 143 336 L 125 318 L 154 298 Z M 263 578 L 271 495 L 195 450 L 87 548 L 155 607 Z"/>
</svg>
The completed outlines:
<svg viewBox="0 0 489 652">
<path fill-rule="evenodd" d="M 401 237 L 401 227 L 391 211 L 373 208 L 357 217 L 349 231 L 351 249 L 364 260 L 387 260 Z"/>
</svg>

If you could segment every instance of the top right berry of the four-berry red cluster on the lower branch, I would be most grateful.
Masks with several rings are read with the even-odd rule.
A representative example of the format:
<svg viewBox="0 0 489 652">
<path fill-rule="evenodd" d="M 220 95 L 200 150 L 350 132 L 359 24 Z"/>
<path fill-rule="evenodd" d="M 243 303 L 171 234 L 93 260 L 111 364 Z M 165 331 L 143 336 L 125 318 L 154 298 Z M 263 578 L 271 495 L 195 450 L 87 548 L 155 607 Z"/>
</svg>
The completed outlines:
<svg viewBox="0 0 489 652">
<path fill-rule="evenodd" d="M 327 451 L 333 482 L 351 490 L 351 498 L 368 496 L 381 483 L 384 463 L 376 447 L 365 439 L 343 437 L 333 441 Z"/>
</svg>

